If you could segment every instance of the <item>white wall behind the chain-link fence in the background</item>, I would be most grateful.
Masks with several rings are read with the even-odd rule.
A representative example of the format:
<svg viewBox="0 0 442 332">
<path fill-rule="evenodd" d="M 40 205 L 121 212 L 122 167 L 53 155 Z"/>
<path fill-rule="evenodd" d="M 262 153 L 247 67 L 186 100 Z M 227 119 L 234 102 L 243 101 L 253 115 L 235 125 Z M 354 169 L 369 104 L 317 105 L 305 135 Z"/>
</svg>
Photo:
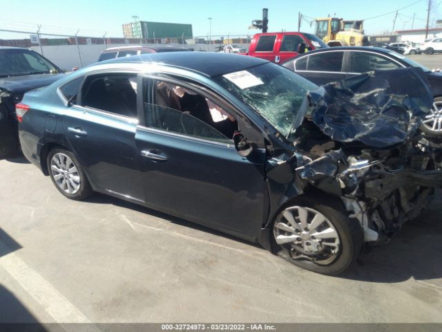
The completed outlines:
<svg viewBox="0 0 442 332">
<path fill-rule="evenodd" d="M 180 44 L 169 44 L 171 46 L 182 47 Z M 106 48 L 126 46 L 124 44 L 108 44 Z M 166 44 L 143 44 L 143 46 L 166 46 Z M 191 48 L 193 50 L 205 50 L 214 51 L 215 48 L 219 46 L 218 44 L 189 44 L 185 45 L 186 48 Z M 249 44 L 240 44 L 241 47 L 249 49 Z M 39 46 L 32 46 L 32 50 L 40 53 Z M 55 45 L 55 46 L 42 46 L 43 55 L 50 59 L 51 62 L 59 66 L 64 71 L 71 71 L 73 67 L 81 67 L 77 45 Z M 83 66 L 88 66 L 97 62 L 97 59 L 104 50 L 104 45 L 79 45 L 81 63 Z"/>
</svg>

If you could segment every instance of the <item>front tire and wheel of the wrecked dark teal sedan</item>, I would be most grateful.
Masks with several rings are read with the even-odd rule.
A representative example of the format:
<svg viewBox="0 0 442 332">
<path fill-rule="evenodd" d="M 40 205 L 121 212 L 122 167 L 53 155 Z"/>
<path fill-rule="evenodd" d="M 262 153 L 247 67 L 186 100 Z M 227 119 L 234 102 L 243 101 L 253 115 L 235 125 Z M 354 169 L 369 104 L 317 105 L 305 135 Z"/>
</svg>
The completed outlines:
<svg viewBox="0 0 442 332">
<path fill-rule="evenodd" d="M 307 227 L 300 232 L 302 210 L 307 211 Z M 289 214 L 294 217 L 296 225 L 290 223 Z M 325 220 L 321 222 L 321 219 Z M 323 275 L 343 273 L 356 260 L 363 246 L 361 225 L 349 219 L 340 201 L 325 195 L 299 196 L 285 205 L 273 222 L 272 233 L 272 245 L 277 255 L 296 266 Z M 318 233 L 321 233 L 320 237 L 325 234 L 336 237 L 321 239 Z"/>
</svg>

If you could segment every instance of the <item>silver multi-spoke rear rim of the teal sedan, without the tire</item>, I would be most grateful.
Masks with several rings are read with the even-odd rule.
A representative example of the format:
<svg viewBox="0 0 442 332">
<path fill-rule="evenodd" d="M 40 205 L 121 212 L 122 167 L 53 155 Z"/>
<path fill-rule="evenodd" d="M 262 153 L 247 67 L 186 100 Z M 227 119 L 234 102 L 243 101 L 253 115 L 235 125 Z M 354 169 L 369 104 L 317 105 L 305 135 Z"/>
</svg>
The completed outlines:
<svg viewBox="0 0 442 332">
<path fill-rule="evenodd" d="M 57 153 L 50 160 L 50 172 L 58 187 L 67 194 L 77 194 L 81 187 L 77 166 L 66 154 Z"/>
</svg>

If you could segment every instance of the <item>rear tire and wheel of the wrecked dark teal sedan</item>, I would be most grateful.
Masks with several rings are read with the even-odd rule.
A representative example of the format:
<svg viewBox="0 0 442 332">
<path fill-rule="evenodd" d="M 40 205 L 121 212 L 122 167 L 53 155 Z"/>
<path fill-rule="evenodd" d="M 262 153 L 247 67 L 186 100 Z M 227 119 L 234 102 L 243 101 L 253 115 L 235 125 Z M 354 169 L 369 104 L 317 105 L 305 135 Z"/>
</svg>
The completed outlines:
<svg viewBox="0 0 442 332">
<path fill-rule="evenodd" d="M 52 149 L 48 154 L 47 165 L 52 183 L 68 199 L 80 201 L 93 193 L 83 168 L 72 152 Z"/>
</svg>

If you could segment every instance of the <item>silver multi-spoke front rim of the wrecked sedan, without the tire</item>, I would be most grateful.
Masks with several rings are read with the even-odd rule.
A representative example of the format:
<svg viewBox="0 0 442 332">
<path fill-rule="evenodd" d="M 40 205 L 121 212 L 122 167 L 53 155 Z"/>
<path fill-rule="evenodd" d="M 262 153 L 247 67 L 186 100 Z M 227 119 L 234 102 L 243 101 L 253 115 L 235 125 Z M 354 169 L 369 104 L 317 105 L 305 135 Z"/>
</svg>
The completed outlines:
<svg viewBox="0 0 442 332">
<path fill-rule="evenodd" d="M 273 225 L 278 245 L 289 250 L 292 259 L 331 264 L 340 255 L 340 239 L 334 225 L 312 208 L 292 206 L 283 210 Z"/>
</svg>

